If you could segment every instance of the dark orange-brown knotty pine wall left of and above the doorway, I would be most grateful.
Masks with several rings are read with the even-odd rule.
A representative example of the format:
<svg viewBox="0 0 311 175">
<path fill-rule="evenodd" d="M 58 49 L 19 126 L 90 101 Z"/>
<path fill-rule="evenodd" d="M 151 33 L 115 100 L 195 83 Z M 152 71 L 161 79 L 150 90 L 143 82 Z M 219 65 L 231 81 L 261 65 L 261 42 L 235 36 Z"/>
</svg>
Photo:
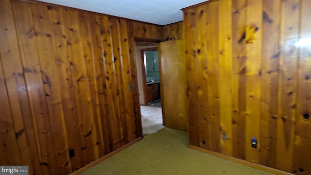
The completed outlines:
<svg viewBox="0 0 311 175">
<path fill-rule="evenodd" d="M 142 136 L 134 37 L 161 27 L 19 0 L 0 18 L 0 165 L 67 175 Z"/>
</svg>

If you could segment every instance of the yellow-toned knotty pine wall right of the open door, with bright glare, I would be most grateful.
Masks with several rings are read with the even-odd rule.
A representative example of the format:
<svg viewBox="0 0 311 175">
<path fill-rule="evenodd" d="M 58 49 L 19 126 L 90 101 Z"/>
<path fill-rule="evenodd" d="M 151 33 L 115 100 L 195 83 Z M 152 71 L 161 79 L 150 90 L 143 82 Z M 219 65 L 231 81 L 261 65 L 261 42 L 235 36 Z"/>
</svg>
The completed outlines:
<svg viewBox="0 0 311 175">
<path fill-rule="evenodd" d="M 191 145 L 311 174 L 310 6 L 213 0 L 184 9 Z"/>
</svg>

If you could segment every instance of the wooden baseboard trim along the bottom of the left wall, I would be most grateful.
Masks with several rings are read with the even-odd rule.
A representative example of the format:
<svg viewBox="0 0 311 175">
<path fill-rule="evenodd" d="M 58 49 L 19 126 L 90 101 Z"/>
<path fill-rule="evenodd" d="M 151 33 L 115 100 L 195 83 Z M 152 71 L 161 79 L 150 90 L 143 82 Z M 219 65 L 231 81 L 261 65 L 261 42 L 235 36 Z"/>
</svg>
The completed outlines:
<svg viewBox="0 0 311 175">
<path fill-rule="evenodd" d="M 95 160 L 95 161 L 93 161 L 93 162 L 87 164 L 86 166 L 84 166 L 84 167 L 80 168 L 79 170 L 77 170 L 77 171 L 71 173 L 70 175 L 80 175 L 81 173 L 83 173 L 83 172 L 86 171 L 87 169 L 89 169 L 89 168 L 91 168 L 91 167 L 93 167 L 93 166 L 95 166 L 95 165 L 101 163 L 102 161 L 106 160 L 107 158 L 112 157 L 112 156 L 116 155 L 117 153 L 120 153 L 120 152 L 123 151 L 124 149 L 126 149 L 126 148 L 132 146 L 134 143 L 140 141 L 142 138 L 143 138 L 143 137 L 140 137 L 140 138 L 138 138 L 138 139 L 136 139 L 136 140 L 134 140 L 134 141 L 132 141 L 132 142 L 129 142 L 128 144 L 122 146 L 121 148 L 119 148 L 119 149 L 117 149 L 117 150 L 115 150 L 115 151 L 113 151 L 113 152 L 111 152 L 111 153 L 105 155 L 104 157 L 101 157 L 101 158 L 99 158 L 99 159 L 97 159 L 97 160 Z"/>
</svg>

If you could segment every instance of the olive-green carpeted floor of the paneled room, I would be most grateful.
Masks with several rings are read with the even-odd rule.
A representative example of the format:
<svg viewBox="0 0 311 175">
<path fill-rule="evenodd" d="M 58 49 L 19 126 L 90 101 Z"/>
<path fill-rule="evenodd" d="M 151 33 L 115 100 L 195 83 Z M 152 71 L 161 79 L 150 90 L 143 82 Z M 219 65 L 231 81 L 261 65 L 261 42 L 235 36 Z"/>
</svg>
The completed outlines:
<svg viewBox="0 0 311 175">
<path fill-rule="evenodd" d="M 189 149 L 188 133 L 163 128 L 82 175 L 272 175 Z"/>
</svg>

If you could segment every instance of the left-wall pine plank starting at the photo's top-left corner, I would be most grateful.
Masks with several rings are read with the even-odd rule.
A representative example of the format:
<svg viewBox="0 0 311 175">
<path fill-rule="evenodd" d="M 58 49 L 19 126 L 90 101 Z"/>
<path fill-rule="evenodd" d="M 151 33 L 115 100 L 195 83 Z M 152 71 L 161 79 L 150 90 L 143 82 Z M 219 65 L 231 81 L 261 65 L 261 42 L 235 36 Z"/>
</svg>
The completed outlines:
<svg viewBox="0 0 311 175">
<path fill-rule="evenodd" d="M 28 103 L 25 78 L 18 48 L 14 13 L 9 0 L 0 1 L 0 54 L 3 75 L 12 112 L 14 132 L 17 134 L 18 154 L 20 163 L 29 165 L 29 173 L 40 173 L 39 156 L 37 150 L 37 134 L 33 125 Z M 13 64 L 14 63 L 14 64 Z M 31 138 L 31 139 L 28 139 Z M 3 164 L 1 162 L 1 164 Z"/>
</svg>

